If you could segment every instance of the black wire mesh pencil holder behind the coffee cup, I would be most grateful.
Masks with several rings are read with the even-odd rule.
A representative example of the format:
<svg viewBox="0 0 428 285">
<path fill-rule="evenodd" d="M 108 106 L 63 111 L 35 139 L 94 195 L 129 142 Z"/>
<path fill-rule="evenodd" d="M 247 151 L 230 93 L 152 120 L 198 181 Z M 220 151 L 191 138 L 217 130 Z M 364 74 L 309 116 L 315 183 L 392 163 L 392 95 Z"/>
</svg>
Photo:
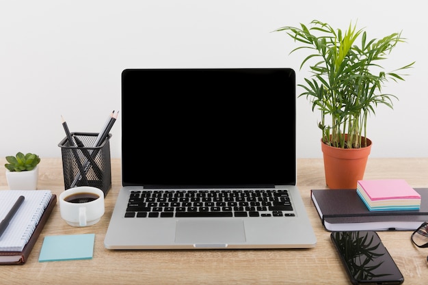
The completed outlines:
<svg viewBox="0 0 428 285">
<path fill-rule="evenodd" d="M 71 133 L 75 140 L 70 146 L 67 137 L 59 142 L 64 172 L 64 187 L 92 186 L 101 189 L 104 196 L 111 188 L 111 134 L 99 146 L 94 146 L 98 133 Z"/>
</svg>

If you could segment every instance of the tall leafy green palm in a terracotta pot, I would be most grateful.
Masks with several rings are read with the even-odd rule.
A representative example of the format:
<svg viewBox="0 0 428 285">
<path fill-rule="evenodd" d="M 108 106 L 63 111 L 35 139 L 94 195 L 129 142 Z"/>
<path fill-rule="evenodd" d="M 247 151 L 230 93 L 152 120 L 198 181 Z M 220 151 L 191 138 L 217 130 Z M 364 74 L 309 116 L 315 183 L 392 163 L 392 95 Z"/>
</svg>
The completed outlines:
<svg viewBox="0 0 428 285">
<path fill-rule="evenodd" d="M 393 94 L 382 93 L 382 87 L 389 80 L 403 81 L 403 74 L 397 72 L 410 68 L 414 62 L 392 72 L 385 72 L 380 65 L 399 42 L 405 42 L 401 33 L 369 40 L 366 31 L 352 23 L 345 31 L 317 20 L 310 24 L 312 27 L 301 23 L 300 27 L 280 27 L 276 31 L 285 31 L 301 44 L 290 53 L 302 49 L 312 52 L 304 57 L 301 70 L 315 60 L 309 66 L 311 77 L 298 86 L 304 89 L 299 96 L 310 100 L 312 111 L 321 112 L 318 126 L 325 182 L 331 189 L 355 189 L 357 180 L 364 176 L 371 150 L 368 118 L 375 114 L 377 105 L 392 109 L 392 100 L 397 99 Z M 352 165 L 360 168 L 350 169 Z"/>
</svg>

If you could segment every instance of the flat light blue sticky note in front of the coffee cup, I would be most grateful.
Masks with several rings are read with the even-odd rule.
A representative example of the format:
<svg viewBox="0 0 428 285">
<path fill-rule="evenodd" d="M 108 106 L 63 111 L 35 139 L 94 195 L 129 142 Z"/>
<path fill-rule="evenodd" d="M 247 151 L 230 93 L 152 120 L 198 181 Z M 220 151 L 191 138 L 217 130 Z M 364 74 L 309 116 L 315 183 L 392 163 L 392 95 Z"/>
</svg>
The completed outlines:
<svg viewBox="0 0 428 285">
<path fill-rule="evenodd" d="M 39 262 L 92 259 L 95 234 L 45 236 Z"/>
</svg>

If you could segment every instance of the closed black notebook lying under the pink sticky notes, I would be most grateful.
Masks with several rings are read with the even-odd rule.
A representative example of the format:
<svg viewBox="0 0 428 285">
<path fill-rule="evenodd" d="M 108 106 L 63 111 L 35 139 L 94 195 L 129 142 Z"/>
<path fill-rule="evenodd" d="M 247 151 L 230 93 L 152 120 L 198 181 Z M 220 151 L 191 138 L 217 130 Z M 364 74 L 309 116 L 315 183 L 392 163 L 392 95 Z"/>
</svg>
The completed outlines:
<svg viewBox="0 0 428 285">
<path fill-rule="evenodd" d="M 428 188 L 420 194 L 419 210 L 369 211 L 356 189 L 312 189 L 312 202 L 326 230 L 416 230 L 428 220 Z"/>
</svg>

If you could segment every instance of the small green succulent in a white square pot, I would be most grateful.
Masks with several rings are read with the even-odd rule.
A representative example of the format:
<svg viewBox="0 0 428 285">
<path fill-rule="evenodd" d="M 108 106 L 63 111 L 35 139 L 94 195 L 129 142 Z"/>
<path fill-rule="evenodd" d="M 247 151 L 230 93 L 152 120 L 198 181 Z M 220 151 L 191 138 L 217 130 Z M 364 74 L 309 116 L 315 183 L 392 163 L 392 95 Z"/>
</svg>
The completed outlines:
<svg viewBox="0 0 428 285">
<path fill-rule="evenodd" d="M 16 156 L 6 157 L 6 179 L 11 190 L 36 190 L 38 182 L 37 154 L 18 152 Z"/>
</svg>

